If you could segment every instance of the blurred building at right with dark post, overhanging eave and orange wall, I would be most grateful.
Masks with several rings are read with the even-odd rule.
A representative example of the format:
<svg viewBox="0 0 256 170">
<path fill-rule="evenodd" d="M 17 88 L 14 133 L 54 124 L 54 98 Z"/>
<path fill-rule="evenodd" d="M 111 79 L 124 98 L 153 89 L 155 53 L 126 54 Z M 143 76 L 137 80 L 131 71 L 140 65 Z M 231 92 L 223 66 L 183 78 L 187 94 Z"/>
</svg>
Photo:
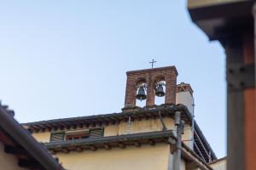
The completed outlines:
<svg viewBox="0 0 256 170">
<path fill-rule="evenodd" d="M 188 2 L 191 19 L 226 52 L 228 170 L 255 170 L 255 1 Z"/>
</svg>

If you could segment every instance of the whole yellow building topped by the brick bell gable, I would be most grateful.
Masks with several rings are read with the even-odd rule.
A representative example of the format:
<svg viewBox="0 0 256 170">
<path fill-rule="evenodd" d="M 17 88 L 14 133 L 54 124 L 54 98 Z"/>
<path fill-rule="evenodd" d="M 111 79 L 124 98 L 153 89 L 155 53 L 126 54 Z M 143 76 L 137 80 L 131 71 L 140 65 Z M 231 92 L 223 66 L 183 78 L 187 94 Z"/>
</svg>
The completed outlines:
<svg viewBox="0 0 256 170">
<path fill-rule="evenodd" d="M 128 71 L 122 112 L 24 127 L 69 170 L 212 170 L 208 163 L 217 157 L 191 113 L 193 90 L 176 77 L 174 66 Z M 165 95 L 165 103 L 154 105 L 154 95 Z M 146 99 L 145 107 L 136 99 Z"/>
</svg>

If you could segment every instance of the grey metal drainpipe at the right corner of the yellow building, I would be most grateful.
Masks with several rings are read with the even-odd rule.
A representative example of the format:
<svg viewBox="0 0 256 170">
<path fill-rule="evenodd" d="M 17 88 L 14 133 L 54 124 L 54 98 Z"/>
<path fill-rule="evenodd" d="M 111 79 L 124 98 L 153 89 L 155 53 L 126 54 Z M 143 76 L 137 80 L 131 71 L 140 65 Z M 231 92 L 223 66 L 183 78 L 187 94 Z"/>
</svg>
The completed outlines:
<svg viewBox="0 0 256 170">
<path fill-rule="evenodd" d="M 180 111 L 175 112 L 175 125 L 177 126 L 177 150 L 173 158 L 173 170 L 180 170 L 183 133 L 183 121 L 181 121 Z"/>
</svg>

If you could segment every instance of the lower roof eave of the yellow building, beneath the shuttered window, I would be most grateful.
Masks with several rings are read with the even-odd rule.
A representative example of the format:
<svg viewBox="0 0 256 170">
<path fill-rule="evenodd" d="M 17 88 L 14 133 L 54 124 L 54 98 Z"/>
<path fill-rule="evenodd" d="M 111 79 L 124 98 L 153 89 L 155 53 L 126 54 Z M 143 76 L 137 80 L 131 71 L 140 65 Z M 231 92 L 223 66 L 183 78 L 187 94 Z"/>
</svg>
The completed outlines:
<svg viewBox="0 0 256 170">
<path fill-rule="evenodd" d="M 70 151 L 83 151 L 83 150 L 111 150 L 113 147 L 120 147 L 125 149 L 126 146 L 137 146 L 140 147 L 141 144 L 154 145 L 157 143 L 166 143 L 174 146 L 172 151 L 175 151 L 176 147 L 176 137 L 172 130 L 152 132 L 152 133 L 134 133 L 125 134 L 120 136 L 110 136 L 101 137 L 94 139 L 79 139 L 73 141 L 61 141 L 54 143 L 45 143 L 47 149 L 49 149 L 53 154 L 57 152 L 69 153 Z M 212 167 L 208 166 L 200 156 L 197 156 L 195 152 L 186 144 L 182 144 L 182 156 L 188 161 L 196 163 L 198 167 L 204 170 L 212 170 Z"/>
</svg>

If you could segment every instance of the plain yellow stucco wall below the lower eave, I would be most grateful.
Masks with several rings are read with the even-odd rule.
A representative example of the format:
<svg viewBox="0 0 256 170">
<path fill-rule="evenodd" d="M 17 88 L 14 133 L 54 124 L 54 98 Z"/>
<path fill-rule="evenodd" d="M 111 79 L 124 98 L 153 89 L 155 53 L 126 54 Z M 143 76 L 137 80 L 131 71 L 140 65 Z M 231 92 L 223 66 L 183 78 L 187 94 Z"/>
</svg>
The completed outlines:
<svg viewBox="0 0 256 170">
<path fill-rule="evenodd" d="M 140 148 L 57 153 L 55 156 L 68 170 L 167 170 L 169 154 L 169 144 L 155 144 Z"/>
</svg>

